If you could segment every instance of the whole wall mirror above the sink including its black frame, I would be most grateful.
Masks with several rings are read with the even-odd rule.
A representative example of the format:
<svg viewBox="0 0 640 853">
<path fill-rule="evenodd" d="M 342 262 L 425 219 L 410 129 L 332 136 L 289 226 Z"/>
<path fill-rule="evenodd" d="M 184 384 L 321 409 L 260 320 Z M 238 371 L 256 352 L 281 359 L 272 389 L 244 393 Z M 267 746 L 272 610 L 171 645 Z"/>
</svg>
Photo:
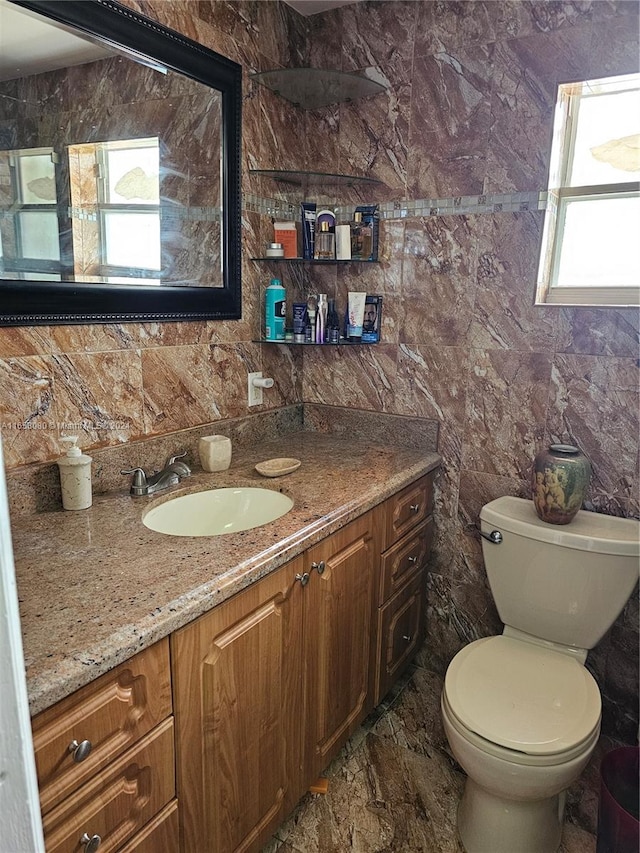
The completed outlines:
<svg viewBox="0 0 640 853">
<path fill-rule="evenodd" d="M 239 318 L 241 67 L 112 0 L 0 24 L 0 325 Z"/>
</svg>

